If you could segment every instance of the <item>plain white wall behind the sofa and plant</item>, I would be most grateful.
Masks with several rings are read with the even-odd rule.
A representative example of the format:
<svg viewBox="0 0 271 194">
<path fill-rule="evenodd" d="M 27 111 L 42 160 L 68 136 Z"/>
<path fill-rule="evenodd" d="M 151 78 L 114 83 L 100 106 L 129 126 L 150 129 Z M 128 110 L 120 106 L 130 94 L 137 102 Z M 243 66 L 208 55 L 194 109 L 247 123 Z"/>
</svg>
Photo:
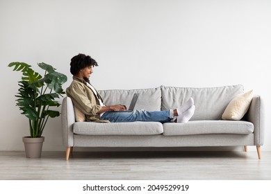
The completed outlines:
<svg viewBox="0 0 271 194">
<path fill-rule="evenodd" d="M 52 64 L 69 77 L 67 87 L 78 53 L 99 62 L 92 75 L 98 89 L 254 89 L 265 103 L 262 150 L 271 150 L 271 1 L 0 0 L 0 26 L 0 150 L 24 150 L 28 135 L 15 106 L 20 73 L 9 62 L 37 71 L 37 62 Z M 60 117 L 49 120 L 44 136 L 43 150 L 65 150 Z"/>
</svg>

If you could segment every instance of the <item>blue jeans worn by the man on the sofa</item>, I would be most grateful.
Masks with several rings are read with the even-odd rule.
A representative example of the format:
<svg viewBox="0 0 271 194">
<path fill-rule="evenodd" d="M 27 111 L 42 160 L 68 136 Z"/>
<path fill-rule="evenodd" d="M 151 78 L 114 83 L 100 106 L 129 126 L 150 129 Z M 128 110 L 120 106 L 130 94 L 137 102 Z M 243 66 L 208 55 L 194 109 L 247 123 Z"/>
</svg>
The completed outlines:
<svg viewBox="0 0 271 194">
<path fill-rule="evenodd" d="M 133 112 L 105 112 L 101 118 L 112 123 L 134 122 L 134 121 L 157 121 L 161 123 L 171 122 L 174 118 L 173 110 L 152 111 L 135 110 Z"/>
</svg>

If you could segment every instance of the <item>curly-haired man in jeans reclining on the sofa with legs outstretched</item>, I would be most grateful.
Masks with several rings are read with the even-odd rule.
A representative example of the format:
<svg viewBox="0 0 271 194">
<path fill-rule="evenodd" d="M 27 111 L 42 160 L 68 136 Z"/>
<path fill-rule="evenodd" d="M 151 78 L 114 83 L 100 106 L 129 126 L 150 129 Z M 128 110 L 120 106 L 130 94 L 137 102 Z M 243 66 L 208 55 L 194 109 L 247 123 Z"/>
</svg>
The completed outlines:
<svg viewBox="0 0 271 194">
<path fill-rule="evenodd" d="M 67 88 L 67 96 L 72 98 L 74 106 L 85 114 L 87 121 L 93 122 L 133 122 L 158 121 L 161 123 L 187 123 L 195 111 L 194 100 L 190 98 L 184 105 L 167 111 L 115 112 L 126 110 L 124 105 L 105 105 L 99 92 L 90 84 L 90 76 L 97 62 L 89 55 L 79 54 L 72 58 L 70 72 L 72 84 Z"/>
</svg>

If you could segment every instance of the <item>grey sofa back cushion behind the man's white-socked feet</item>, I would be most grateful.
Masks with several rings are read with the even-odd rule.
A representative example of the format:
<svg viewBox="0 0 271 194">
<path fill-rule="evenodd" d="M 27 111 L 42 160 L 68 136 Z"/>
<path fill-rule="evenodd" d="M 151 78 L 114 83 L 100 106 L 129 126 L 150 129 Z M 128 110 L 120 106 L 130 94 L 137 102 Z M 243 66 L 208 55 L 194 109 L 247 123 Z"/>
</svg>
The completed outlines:
<svg viewBox="0 0 271 194">
<path fill-rule="evenodd" d="M 195 102 L 195 114 L 190 119 L 221 120 L 229 102 L 244 92 L 243 85 L 225 87 L 166 87 L 161 86 L 162 110 L 174 109 L 185 103 L 190 97 Z"/>
</svg>

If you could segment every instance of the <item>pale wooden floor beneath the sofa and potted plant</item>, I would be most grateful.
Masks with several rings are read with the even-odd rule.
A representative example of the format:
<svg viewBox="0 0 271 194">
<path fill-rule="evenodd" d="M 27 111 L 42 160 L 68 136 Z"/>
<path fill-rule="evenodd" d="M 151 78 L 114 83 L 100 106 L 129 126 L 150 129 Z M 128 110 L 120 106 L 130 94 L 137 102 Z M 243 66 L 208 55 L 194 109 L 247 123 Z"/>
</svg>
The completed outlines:
<svg viewBox="0 0 271 194">
<path fill-rule="evenodd" d="M 270 180 L 271 152 L 0 152 L 1 180 Z"/>
</svg>

